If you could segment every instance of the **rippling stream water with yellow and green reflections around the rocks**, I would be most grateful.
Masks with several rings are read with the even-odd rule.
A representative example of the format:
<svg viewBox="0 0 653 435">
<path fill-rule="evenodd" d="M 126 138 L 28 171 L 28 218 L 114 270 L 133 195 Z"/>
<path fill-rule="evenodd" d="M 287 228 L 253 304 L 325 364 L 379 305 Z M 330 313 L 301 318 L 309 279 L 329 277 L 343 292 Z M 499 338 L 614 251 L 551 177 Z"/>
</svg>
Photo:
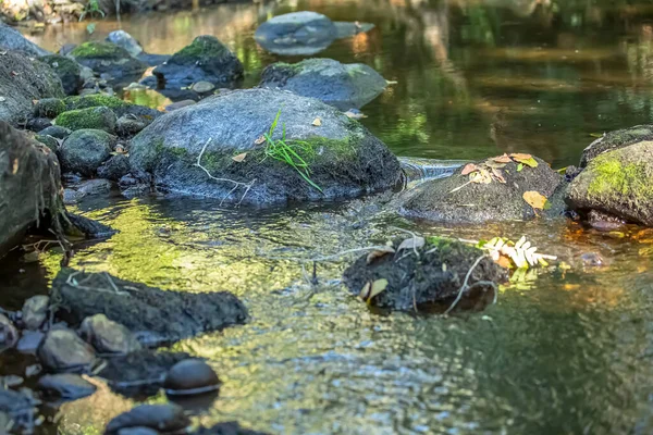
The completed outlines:
<svg viewBox="0 0 653 435">
<path fill-rule="evenodd" d="M 649 2 L 316 0 L 123 17 L 122 27 L 151 52 L 215 35 L 254 85 L 276 60 L 254 42 L 256 25 L 309 9 L 377 24 L 321 54 L 397 80 L 364 108 L 362 122 L 401 156 L 518 150 L 563 166 L 578 161 L 591 134 L 651 117 Z M 98 22 L 93 37 L 114 28 Z M 85 24 L 33 37 L 52 49 L 87 38 Z M 226 289 L 249 308 L 249 324 L 174 346 L 208 358 L 224 382 L 198 422 L 238 420 L 274 434 L 653 433 L 653 232 L 566 222 L 441 227 L 359 201 L 261 212 L 113 196 L 79 211 L 121 233 L 79 249 L 73 266 L 171 290 Z M 383 243 L 401 235 L 393 226 L 472 239 L 527 234 L 570 269 L 515 276 L 495 306 L 445 319 L 374 314 L 338 284 L 346 261 L 321 263 L 311 286 L 294 260 Z M 586 264 L 587 253 L 604 264 Z M 20 306 L 17 289 L 46 293 L 59 260 L 50 250 L 38 262 L 4 262 L 5 304 Z M 101 433 L 132 406 L 102 388 L 65 405 L 41 432 Z"/>
</svg>

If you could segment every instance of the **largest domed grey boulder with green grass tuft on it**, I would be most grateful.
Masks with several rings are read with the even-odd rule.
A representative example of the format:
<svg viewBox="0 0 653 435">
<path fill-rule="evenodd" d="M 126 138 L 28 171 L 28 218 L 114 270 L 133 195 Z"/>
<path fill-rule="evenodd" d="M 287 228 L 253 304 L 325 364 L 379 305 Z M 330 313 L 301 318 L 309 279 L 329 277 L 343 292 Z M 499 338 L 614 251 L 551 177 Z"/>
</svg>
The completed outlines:
<svg viewBox="0 0 653 435">
<path fill-rule="evenodd" d="M 266 158 L 260 138 L 280 108 L 273 138 L 282 137 L 285 125 L 286 145 L 310 161 L 310 178 L 322 191 L 291 165 Z M 318 117 L 320 126 L 313 125 Z M 211 176 L 243 185 L 217 182 L 196 166 L 205 146 L 200 163 Z M 244 152 L 244 160 L 233 160 Z M 353 197 L 389 189 L 401 177 L 397 159 L 356 121 L 316 99 L 260 88 L 221 94 L 159 117 L 132 140 L 130 163 L 152 174 L 163 190 L 256 204 Z M 244 185 L 254 179 L 247 190 Z"/>
</svg>

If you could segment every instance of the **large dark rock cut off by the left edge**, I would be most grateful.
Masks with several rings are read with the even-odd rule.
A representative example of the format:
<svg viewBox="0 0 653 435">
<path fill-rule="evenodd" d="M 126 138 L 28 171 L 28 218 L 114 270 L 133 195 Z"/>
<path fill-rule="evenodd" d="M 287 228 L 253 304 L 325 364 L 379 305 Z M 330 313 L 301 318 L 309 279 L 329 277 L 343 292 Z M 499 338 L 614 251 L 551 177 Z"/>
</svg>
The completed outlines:
<svg viewBox="0 0 653 435">
<path fill-rule="evenodd" d="M 50 149 L 0 121 L 0 257 L 35 224 L 61 231 L 60 179 Z"/>
</svg>

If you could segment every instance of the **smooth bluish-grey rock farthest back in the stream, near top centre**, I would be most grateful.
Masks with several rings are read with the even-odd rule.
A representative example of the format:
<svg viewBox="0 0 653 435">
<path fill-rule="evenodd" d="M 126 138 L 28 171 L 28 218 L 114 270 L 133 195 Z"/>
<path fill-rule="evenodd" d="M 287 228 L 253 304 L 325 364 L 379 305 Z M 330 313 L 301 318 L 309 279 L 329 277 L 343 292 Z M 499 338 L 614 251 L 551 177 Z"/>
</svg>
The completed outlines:
<svg viewBox="0 0 653 435">
<path fill-rule="evenodd" d="M 311 55 L 324 50 L 337 37 L 337 28 L 325 15 L 303 11 L 275 16 L 261 24 L 254 35 L 267 51 L 283 55 Z"/>
</svg>

